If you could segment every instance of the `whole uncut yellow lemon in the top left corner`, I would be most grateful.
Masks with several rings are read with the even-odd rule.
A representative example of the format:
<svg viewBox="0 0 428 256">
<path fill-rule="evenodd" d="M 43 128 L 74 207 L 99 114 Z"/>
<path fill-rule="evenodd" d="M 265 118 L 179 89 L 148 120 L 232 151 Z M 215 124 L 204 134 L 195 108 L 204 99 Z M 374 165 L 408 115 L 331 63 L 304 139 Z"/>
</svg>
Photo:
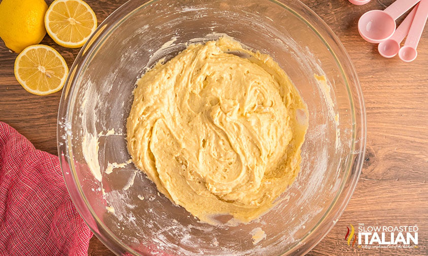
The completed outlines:
<svg viewBox="0 0 428 256">
<path fill-rule="evenodd" d="M 46 35 L 47 9 L 44 0 L 3 0 L 0 3 L 0 38 L 17 53 L 39 44 Z"/>
</svg>

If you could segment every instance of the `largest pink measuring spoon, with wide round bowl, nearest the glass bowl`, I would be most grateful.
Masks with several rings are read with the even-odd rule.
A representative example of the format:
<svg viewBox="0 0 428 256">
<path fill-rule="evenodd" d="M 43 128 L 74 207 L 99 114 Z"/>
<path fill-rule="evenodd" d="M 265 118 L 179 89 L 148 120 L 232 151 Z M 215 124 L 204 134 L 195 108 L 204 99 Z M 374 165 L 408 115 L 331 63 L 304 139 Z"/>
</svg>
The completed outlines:
<svg viewBox="0 0 428 256">
<path fill-rule="evenodd" d="M 361 37 L 370 43 L 380 43 L 396 31 L 396 19 L 416 5 L 420 0 L 397 0 L 385 10 L 366 12 L 358 20 Z"/>
</svg>

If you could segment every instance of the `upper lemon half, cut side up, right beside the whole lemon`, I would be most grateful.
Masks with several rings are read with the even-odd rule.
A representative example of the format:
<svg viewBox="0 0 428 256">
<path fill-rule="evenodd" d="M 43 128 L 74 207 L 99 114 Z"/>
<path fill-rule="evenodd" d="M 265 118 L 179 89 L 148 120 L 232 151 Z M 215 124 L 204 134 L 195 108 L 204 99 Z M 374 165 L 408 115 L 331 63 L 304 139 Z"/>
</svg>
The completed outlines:
<svg viewBox="0 0 428 256">
<path fill-rule="evenodd" d="M 95 31 L 96 16 L 82 0 L 55 0 L 45 15 L 49 36 L 60 46 L 82 47 Z"/>
</svg>

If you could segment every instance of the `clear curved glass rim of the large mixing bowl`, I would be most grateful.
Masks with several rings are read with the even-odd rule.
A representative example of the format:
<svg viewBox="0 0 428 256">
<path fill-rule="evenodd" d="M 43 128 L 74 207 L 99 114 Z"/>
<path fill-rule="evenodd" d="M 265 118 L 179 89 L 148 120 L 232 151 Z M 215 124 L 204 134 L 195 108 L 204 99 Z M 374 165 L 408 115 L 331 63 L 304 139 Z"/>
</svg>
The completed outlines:
<svg viewBox="0 0 428 256">
<path fill-rule="evenodd" d="M 103 242 L 104 245 L 106 245 L 115 253 L 127 252 L 139 255 L 138 252 L 129 248 L 128 245 L 122 243 L 103 224 L 96 214 L 94 214 L 93 209 L 82 193 L 79 182 L 75 179 L 75 175 L 73 174 L 76 172 L 76 169 L 73 164 L 73 152 L 70 147 L 71 135 L 65 131 L 63 123 L 71 121 L 69 112 L 73 106 L 71 103 L 73 100 L 73 91 L 75 88 L 74 85 L 79 75 L 82 73 L 82 70 L 84 70 L 88 59 L 90 59 L 91 53 L 96 51 L 97 47 L 100 47 L 104 39 L 107 38 L 109 34 L 114 31 L 115 27 L 120 25 L 123 20 L 126 20 L 138 10 L 158 1 L 161 0 L 150 0 L 143 2 L 129 0 L 116 9 L 112 14 L 110 14 L 97 27 L 95 32 L 91 35 L 89 40 L 81 48 L 80 52 L 76 56 L 76 59 L 65 82 L 59 103 L 57 118 L 57 146 L 64 181 L 67 185 L 70 197 L 72 198 L 77 211 L 82 216 L 89 229 L 101 242 Z M 312 11 L 299 0 L 288 2 L 286 0 L 265 1 L 275 3 L 301 19 L 310 27 L 310 29 L 314 31 L 314 33 L 316 33 L 316 35 L 321 39 L 328 50 L 330 50 L 334 56 L 334 59 L 336 60 L 338 67 L 340 67 L 340 72 L 342 73 L 342 77 L 345 81 L 352 110 L 352 154 L 348 156 L 348 166 L 346 168 L 347 173 L 341 182 L 340 188 L 338 189 L 332 204 L 327 208 L 327 211 L 319 219 L 314 228 L 298 242 L 292 244 L 288 248 L 288 251 L 282 253 L 281 255 L 289 255 L 293 253 L 306 254 L 312 248 L 314 248 L 334 227 L 354 193 L 361 170 L 363 168 L 366 151 L 366 109 L 356 70 L 343 44 L 340 42 L 339 38 L 336 36 L 333 30 L 314 11 Z M 330 41 L 330 43 L 328 41 Z M 342 60 L 338 59 L 337 55 L 339 54 L 344 56 Z M 346 69 L 346 71 L 344 69 Z M 348 74 L 349 77 L 346 74 Z M 354 86 L 350 87 L 350 84 L 353 84 Z M 63 139 L 64 136 L 67 139 Z M 316 232 L 314 231 L 316 231 L 318 234 L 321 233 L 321 236 L 315 236 L 314 234 Z"/>
</svg>

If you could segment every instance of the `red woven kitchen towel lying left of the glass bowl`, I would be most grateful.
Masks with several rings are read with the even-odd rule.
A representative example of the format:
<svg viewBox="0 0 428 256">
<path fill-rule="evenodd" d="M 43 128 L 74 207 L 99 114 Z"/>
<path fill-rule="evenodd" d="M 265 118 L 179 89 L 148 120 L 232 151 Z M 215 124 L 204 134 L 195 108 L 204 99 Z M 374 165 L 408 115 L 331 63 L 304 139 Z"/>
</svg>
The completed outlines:
<svg viewBox="0 0 428 256">
<path fill-rule="evenodd" d="M 58 156 L 0 121 L 0 255 L 88 255 L 88 226 L 65 187 Z"/>
</svg>

